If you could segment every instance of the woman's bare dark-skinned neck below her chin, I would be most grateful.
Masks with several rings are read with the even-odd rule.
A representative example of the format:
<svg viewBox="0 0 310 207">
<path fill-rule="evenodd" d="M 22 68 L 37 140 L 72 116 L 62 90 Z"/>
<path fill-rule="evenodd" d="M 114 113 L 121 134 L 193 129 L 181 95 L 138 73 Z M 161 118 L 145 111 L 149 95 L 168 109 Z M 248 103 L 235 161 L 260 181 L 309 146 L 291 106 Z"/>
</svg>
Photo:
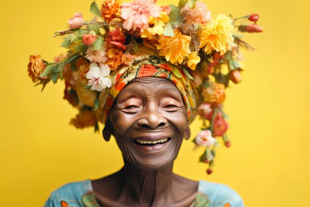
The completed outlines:
<svg viewBox="0 0 310 207">
<path fill-rule="evenodd" d="M 124 159 L 124 187 L 130 190 L 132 198 L 144 206 L 157 206 L 167 201 L 172 191 L 173 163 L 160 170 L 144 170 Z"/>
</svg>

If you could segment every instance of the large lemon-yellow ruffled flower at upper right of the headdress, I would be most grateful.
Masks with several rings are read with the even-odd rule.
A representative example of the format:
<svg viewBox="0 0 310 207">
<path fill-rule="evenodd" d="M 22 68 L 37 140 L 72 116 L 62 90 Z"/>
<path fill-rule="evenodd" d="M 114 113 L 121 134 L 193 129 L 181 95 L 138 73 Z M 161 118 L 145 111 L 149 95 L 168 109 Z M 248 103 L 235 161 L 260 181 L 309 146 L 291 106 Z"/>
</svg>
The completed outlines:
<svg viewBox="0 0 310 207">
<path fill-rule="evenodd" d="M 198 32 L 200 46 L 205 47 L 205 53 L 210 54 L 217 51 L 220 55 L 224 55 L 233 42 L 232 31 L 234 26 L 231 24 L 231 18 L 220 14 L 215 21 L 202 25 L 202 29 Z"/>
</svg>

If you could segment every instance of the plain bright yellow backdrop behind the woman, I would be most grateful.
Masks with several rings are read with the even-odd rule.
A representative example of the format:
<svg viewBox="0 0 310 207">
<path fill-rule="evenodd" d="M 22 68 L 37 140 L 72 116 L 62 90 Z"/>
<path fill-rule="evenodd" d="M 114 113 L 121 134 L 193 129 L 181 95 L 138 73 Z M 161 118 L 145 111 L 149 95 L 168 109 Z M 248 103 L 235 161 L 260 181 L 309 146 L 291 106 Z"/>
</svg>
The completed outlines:
<svg viewBox="0 0 310 207">
<path fill-rule="evenodd" d="M 64 83 L 43 93 L 27 75 L 28 55 L 62 52 L 53 32 L 92 0 L 1 0 L 0 206 L 42 207 L 61 185 L 108 175 L 122 166 L 115 141 L 69 126 L 77 111 L 63 100 Z M 158 0 L 159 5 L 177 4 Z M 98 2 L 101 3 L 101 2 Z M 217 149 L 214 173 L 197 163 L 202 149 L 185 141 L 174 171 L 231 186 L 247 207 L 310 206 L 309 2 L 210 0 L 219 13 L 260 14 L 264 29 L 246 34 L 258 50 L 244 52 L 243 82 L 227 90 L 232 146 Z M 194 124 L 195 125 L 195 124 Z M 192 138 L 199 128 L 192 126 Z M 101 126 L 102 129 L 102 126 Z"/>
</svg>

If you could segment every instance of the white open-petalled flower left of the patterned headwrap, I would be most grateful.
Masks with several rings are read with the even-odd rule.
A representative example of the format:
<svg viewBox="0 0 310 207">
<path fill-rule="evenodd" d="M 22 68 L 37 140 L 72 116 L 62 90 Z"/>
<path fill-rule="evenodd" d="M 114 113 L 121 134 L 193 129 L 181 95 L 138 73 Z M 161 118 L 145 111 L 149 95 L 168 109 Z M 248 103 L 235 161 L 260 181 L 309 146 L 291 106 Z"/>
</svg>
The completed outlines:
<svg viewBox="0 0 310 207">
<path fill-rule="evenodd" d="M 91 63 L 90 70 L 86 74 L 86 78 L 90 79 L 88 85 L 92 86 L 92 90 L 102 91 L 106 87 L 111 87 L 112 81 L 109 77 L 110 67 L 108 65 Z"/>
</svg>

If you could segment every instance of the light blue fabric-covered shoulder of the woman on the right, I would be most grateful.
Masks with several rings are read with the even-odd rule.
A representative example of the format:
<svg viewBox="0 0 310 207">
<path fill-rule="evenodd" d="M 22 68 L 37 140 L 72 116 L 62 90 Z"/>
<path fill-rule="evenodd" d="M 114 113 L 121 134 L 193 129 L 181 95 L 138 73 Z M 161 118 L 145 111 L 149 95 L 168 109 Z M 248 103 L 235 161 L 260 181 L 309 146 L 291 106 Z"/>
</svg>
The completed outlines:
<svg viewBox="0 0 310 207">
<path fill-rule="evenodd" d="M 226 185 L 201 180 L 198 191 L 207 195 L 211 207 L 244 207 L 238 193 Z"/>
</svg>

